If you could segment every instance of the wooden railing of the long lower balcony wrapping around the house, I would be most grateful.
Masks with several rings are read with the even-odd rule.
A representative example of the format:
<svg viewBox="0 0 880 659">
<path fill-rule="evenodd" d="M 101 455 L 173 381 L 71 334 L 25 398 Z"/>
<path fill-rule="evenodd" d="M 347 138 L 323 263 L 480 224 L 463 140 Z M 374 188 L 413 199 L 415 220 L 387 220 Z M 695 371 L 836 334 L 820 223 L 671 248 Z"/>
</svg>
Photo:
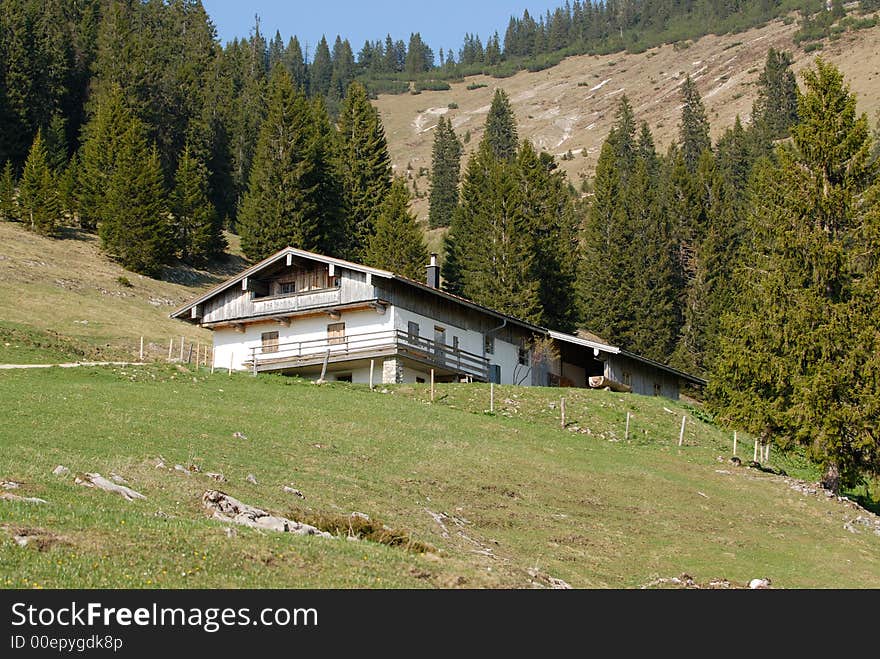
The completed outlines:
<svg viewBox="0 0 880 659">
<path fill-rule="evenodd" d="M 350 334 L 311 341 L 281 341 L 277 345 L 251 348 L 250 367 L 254 372 L 272 366 L 297 366 L 315 363 L 324 358 L 339 361 L 340 357 L 369 358 L 371 354 L 396 354 L 455 373 L 464 373 L 482 380 L 489 377 L 489 360 L 466 350 L 453 348 L 403 330 Z"/>
</svg>

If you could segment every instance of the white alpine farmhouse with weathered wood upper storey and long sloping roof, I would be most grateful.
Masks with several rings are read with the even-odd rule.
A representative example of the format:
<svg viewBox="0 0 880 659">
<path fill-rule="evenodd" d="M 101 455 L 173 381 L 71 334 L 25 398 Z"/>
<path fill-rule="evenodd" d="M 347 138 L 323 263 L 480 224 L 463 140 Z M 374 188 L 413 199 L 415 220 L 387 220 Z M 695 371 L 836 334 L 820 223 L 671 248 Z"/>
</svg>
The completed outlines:
<svg viewBox="0 0 880 659">
<path fill-rule="evenodd" d="M 619 386 L 677 398 L 705 382 L 422 283 L 288 247 L 171 314 L 214 333 L 214 365 L 368 383 Z M 549 350 L 548 350 L 549 347 Z"/>
</svg>

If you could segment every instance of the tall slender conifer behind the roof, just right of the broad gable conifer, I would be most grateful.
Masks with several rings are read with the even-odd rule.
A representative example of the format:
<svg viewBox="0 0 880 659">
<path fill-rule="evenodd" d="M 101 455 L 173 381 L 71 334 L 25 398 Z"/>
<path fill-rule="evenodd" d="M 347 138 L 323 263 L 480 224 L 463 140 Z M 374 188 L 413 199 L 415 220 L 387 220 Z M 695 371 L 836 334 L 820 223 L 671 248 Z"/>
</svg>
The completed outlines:
<svg viewBox="0 0 880 659">
<path fill-rule="evenodd" d="M 338 171 L 348 217 L 347 258 L 358 261 L 374 232 L 379 208 L 391 188 L 391 158 L 379 112 L 367 90 L 352 83 L 339 113 Z"/>
</svg>

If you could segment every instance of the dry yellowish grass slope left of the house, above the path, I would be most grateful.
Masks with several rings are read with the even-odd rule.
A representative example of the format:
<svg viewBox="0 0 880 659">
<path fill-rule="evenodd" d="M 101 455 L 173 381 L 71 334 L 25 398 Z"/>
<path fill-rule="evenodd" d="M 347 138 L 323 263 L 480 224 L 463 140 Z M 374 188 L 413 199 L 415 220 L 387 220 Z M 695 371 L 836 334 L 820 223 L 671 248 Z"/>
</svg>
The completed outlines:
<svg viewBox="0 0 880 659">
<path fill-rule="evenodd" d="M 167 356 L 172 338 L 204 345 L 210 332 L 168 314 L 243 267 L 232 256 L 211 272 L 168 268 L 159 281 L 110 261 L 92 234 L 52 239 L 0 222 L 0 363 L 133 359 L 140 337 L 149 358 Z"/>
</svg>

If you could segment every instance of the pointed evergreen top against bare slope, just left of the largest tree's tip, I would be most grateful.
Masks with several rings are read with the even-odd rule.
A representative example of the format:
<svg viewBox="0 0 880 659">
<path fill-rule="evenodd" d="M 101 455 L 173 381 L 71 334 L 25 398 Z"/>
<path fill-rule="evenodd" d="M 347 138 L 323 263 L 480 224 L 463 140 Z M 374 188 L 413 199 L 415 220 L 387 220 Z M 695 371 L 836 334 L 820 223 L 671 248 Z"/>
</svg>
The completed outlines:
<svg viewBox="0 0 880 659">
<path fill-rule="evenodd" d="M 768 141 L 788 137 L 791 126 L 797 123 L 798 89 L 791 65 L 789 53 L 770 48 L 758 78 L 752 123 Z"/>
</svg>

